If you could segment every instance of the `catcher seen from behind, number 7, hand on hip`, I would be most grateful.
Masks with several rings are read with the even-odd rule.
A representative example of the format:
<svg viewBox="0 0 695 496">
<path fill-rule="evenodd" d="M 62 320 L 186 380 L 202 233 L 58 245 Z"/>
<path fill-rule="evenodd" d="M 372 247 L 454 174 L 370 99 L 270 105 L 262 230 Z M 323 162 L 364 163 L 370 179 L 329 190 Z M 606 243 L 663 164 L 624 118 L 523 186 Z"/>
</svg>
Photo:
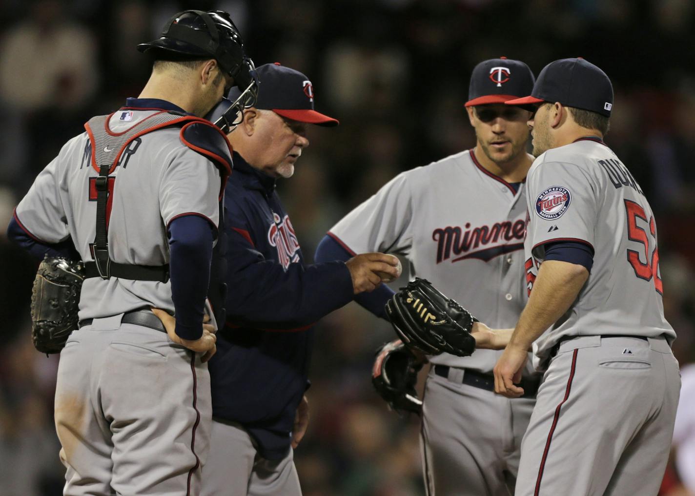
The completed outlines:
<svg viewBox="0 0 695 496">
<path fill-rule="evenodd" d="M 202 116 L 252 86 L 250 61 L 221 11 L 174 15 L 138 49 L 154 58 L 140 96 L 90 119 L 8 228 L 39 257 L 85 262 L 56 385 L 65 495 L 199 494 L 208 451 L 204 305 L 231 151 Z"/>
</svg>

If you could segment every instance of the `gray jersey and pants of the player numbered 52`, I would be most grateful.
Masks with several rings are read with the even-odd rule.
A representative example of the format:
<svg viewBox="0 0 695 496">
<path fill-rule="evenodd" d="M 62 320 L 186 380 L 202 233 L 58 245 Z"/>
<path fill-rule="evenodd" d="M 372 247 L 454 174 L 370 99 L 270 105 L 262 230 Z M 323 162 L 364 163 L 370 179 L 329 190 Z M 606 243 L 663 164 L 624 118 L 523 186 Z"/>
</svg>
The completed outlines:
<svg viewBox="0 0 695 496">
<path fill-rule="evenodd" d="M 529 171 L 527 199 L 530 291 L 548 241 L 587 243 L 594 265 L 566 320 L 534 343 L 535 365 L 546 373 L 521 444 L 516 496 L 567 488 L 655 495 L 680 376 L 651 208 L 598 138 L 541 154 Z"/>
</svg>

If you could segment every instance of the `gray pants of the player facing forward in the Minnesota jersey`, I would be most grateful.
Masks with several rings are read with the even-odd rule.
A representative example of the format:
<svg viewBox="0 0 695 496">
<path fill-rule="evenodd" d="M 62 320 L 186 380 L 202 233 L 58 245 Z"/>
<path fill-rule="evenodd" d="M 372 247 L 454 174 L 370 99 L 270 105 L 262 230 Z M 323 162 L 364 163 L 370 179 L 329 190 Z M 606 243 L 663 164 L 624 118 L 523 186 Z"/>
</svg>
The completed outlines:
<svg viewBox="0 0 695 496">
<path fill-rule="evenodd" d="M 420 436 L 428 496 L 509 496 L 534 399 L 507 399 L 430 370 Z"/>
</svg>

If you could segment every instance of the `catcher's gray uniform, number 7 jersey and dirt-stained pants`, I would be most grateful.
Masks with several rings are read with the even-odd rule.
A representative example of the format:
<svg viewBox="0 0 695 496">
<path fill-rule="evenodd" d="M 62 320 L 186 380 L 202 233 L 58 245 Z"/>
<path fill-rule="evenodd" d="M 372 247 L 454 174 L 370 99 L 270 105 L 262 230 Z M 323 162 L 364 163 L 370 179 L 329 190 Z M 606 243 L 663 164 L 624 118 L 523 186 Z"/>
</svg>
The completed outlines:
<svg viewBox="0 0 695 496">
<path fill-rule="evenodd" d="M 123 109 L 106 132 L 122 134 L 154 113 Z M 217 225 L 220 173 L 180 133 L 172 127 L 135 138 L 111 172 L 117 180 L 110 179 L 106 211 L 114 262 L 168 263 L 167 225 L 177 216 Z M 91 147 L 86 133 L 68 141 L 16 210 L 35 239 L 70 237 L 84 261 L 93 259 L 97 216 Z M 124 312 L 148 306 L 174 310 L 170 282 L 83 283 L 79 317 L 92 320 L 70 335 L 56 381 L 65 494 L 199 494 L 212 416 L 207 364 L 166 333 L 122 322 Z M 163 391 L 170 401 L 161 401 Z"/>
</svg>

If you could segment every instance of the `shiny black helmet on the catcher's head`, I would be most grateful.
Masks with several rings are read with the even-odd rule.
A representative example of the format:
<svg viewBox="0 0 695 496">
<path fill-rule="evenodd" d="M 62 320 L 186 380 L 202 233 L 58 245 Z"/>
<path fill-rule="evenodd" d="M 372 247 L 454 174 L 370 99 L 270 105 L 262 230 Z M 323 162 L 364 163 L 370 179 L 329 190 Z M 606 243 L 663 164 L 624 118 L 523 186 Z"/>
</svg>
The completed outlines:
<svg viewBox="0 0 695 496">
<path fill-rule="evenodd" d="M 254 83 L 239 30 L 223 10 L 184 10 L 167 21 L 157 40 L 140 43 L 138 50 L 155 58 L 215 58 L 240 90 Z"/>
</svg>

